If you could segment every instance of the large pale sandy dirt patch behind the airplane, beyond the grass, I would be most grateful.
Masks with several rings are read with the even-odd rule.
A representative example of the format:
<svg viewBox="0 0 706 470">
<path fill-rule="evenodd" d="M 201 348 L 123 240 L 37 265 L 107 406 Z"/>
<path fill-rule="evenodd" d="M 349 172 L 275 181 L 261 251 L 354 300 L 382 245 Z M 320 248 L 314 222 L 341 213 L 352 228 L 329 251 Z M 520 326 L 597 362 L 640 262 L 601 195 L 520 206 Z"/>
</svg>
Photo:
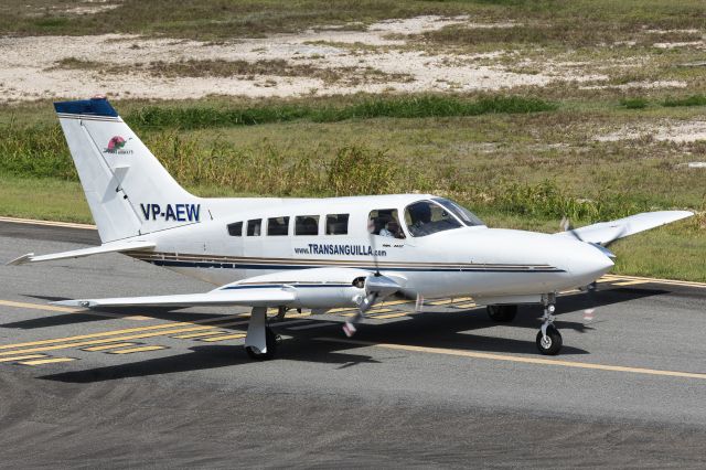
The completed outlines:
<svg viewBox="0 0 706 470">
<path fill-rule="evenodd" d="M 100 8 L 113 4 L 96 2 Z M 505 51 L 434 53 L 406 40 L 454 24 L 515 26 L 429 15 L 383 21 L 362 31 L 322 26 L 218 43 L 125 34 L 2 38 L 0 103 L 96 94 L 183 99 L 473 92 L 607 78 L 552 61 L 521 66 L 514 58 L 502 60 L 512 55 Z"/>
</svg>

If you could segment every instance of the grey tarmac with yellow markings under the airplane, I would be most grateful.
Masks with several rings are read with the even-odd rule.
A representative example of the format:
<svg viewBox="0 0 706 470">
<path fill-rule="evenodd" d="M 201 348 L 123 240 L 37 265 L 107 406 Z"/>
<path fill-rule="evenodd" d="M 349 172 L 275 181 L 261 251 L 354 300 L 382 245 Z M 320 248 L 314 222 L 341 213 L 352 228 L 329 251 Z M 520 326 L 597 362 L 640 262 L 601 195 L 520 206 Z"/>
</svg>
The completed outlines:
<svg viewBox="0 0 706 470">
<path fill-rule="evenodd" d="M 98 244 L 0 222 L 0 261 Z M 510 324 L 472 299 L 290 312 L 278 356 L 247 309 L 84 311 L 52 300 L 213 286 L 111 254 L 0 266 L 0 466 L 8 468 L 706 466 L 706 285 L 607 276 Z M 595 307 L 591 316 L 586 310 Z"/>
</svg>

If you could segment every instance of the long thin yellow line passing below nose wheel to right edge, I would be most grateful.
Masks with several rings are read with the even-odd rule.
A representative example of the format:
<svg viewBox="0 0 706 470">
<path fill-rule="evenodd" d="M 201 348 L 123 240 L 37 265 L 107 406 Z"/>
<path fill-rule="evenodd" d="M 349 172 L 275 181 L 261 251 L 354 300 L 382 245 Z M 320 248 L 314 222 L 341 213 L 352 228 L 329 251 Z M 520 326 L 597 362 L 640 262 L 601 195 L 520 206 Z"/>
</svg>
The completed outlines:
<svg viewBox="0 0 706 470">
<path fill-rule="evenodd" d="M 663 370 L 656 370 L 656 368 L 627 367 L 622 365 L 596 364 L 590 362 L 557 361 L 557 360 L 541 359 L 541 357 L 523 357 L 523 356 L 516 356 L 516 355 L 480 353 L 480 352 L 473 352 L 473 351 L 451 350 L 451 349 L 445 349 L 445 348 L 414 346 L 409 344 L 375 343 L 372 341 L 344 340 L 344 339 L 338 339 L 338 338 L 317 338 L 317 340 L 345 343 L 345 344 L 364 345 L 364 346 L 385 348 L 389 350 L 403 350 L 403 351 L 411 351 L 411 352 L 425 352 L 425 353 L 431 353 L 431 354 L 445 354 L 445 355 L 456 355 L 456 356 L 473 357 L 473 359 L 486 359 L 491 361 L 517 362 L 517 363 L 524 363 L 524 364 L 556 365 L 556 366 L 564 366 L 564 367 L 590 368 L 590 370 L 598 370 L 598 371 L 629 372 L 633 374 L 663 375 L 663 376 L 670 376 L 670 377 L 706 380 L 706 374 L 698 374 L 694 372 L 677 372 L 677 371 L 663 371 Z"/>
</svg>

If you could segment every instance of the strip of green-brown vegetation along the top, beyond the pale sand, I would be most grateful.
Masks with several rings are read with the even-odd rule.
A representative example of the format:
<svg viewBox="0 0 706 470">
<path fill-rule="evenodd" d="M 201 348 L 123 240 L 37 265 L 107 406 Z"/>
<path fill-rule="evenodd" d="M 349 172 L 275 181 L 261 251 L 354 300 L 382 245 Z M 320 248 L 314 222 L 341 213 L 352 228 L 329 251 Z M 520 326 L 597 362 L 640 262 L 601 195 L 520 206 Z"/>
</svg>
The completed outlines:
<svg viewBox="0 0 706 470">
<path fill-rule="evenodd" d="M 472 36 L 452 29 L 438 38 L 454 42 L 576 45 L 617 41 L 635 31 L 703 28 L 706 18 L 702 0 L 124 0 L 114 6 L 93 14 L 79 14 L 75 12 L 76 3 L 68 0 L 6 0 L 0 6 L 0 33 L 136 33 L 228 40 L 323 25 L 361 29 L 388 18 L 470 14 L 479 21 L 531 24 L 507 31 L 490 30 L 478 36 L 470 30 L 468 34 Z M 673 35 L 680 40 L 691 38 L 688 33 Z"/>
</svg>

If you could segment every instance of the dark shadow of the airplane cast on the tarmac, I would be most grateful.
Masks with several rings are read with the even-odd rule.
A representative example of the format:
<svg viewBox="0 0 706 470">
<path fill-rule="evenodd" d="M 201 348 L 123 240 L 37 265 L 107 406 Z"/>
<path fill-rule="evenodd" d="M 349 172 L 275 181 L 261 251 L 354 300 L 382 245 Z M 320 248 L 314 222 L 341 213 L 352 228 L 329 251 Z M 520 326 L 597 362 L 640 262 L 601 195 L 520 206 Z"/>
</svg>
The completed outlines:
<svg viewBox="0 0 706 470">
<path fill-rule="evenodd" d="M 582 308 L 608 306 L 663 292 L 662 290 L 645 289 L 612 289 L 596 292 L 592 299 L 589 299 L 588 296 L 563 297 L 558 303 L 561 307 L 557 311 L 559 319 L 556 324 L 559 329 L 570 328 L 575 331 L 586 332 L 592 329 L 590 324 L 561 321 L 560 316 Z M 521 308 L 516 320 L 507 323 L 507 327 L 538 330 L 539 321 L 537 317 L 541 316 L 542 308 L 535 307 L 536 306 Z M 121 309 L 121 311 L 125 310 Z M 150 314 L 150 312 L 151 309 L 148 310 L 148 314 Z M 142 310 L 142 314 L 145 314 L 145 309 Z M 315 321 L 319 320 L 319 318 L 308 318 L 308 320 Z M 320 318 L 320 320 L 325 321 L 325 316 Z M 278 331 L 276 322 L 271 325 L 275 331 Z M 338 324 L 317 331 L 300 330 L 293 332 L 282 329 L 279 332 L 290 338 L 284 340 L 280 344 L 278 356 L 286 361 L 333 364 L 338 365 L 336 368 L 382 362 L 381 360 L 373 359 L 368 354 L 355 353 L 357 349 L 367 348 L 370 345 L 368 343 L 398 343 L 411 346 L 440 348 L 468 352 L 537 355 L 534 333 L 526 340 L 517 340 L 502 338 L 502 335 L 499 334 L 488 335 L 473 332 L 474 330 L 483 330 L 499 325 L 504 327 L 504 324 L 491 321 L 484 311 L 474 309 L 472 311 L 459 310 L 451 312 L 430 311 L 411 316 L 406 321 L 386 322 L 383 324 L 362 324 L 359 328 L 359 333 L 356 333 L 354 338 L 356 341 L 361 341 L 362 344 L 345 342 L 345 338 Z M 243 330 L 243 328 L 234 327 L 227 329 Z M 320 341 L 320 339 L 330 340 Z M 338 339 L 343 341 L 339 342 Z M 574 355 L 590 354 L 590 352 L 571 346 L 570 344 L 565 344 L 563 353 Z M 40 376 L 39 378 L 71 383 L 93 383 L 246 364 L 253 364 L 253 361 L 247 356 L 242 345 L 204 345 L 193 346 L 188 353 L 168 357 L 64 372 Z"/>
</svg>

